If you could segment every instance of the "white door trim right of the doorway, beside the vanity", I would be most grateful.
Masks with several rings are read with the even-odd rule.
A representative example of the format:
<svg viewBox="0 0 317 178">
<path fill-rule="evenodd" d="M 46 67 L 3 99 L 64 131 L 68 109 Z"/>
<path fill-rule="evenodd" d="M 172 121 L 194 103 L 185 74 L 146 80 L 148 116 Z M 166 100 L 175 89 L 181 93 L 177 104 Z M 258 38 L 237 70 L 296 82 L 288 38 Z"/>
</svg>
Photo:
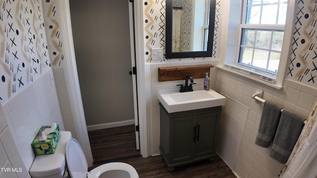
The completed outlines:
<svg viewBox="0 0 317 178">
<path fill-rule="evenodd" d="M 134 3 L 135 56 L 137 66 L 138 114 L 140 128 L 140 152 L 143 158 L 151 153 L 151 67 L 145 62 L 143 0 Z"/>
</svg>

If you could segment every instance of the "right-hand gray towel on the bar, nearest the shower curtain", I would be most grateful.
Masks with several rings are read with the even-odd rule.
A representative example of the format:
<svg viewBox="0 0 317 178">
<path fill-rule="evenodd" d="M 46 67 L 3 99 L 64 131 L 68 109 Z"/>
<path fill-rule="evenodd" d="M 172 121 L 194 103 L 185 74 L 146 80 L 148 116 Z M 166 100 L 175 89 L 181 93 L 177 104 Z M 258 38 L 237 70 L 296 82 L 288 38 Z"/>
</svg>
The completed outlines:
<svg viewBox="0 0 317 178">
<path fill-rule="evenodd" d="M 287 110 L 283 110 L 273 146 L 269 156 L 279 163 L 286 163 L 299 135 L 302 132 L 305 119 Z"/>
</svg>

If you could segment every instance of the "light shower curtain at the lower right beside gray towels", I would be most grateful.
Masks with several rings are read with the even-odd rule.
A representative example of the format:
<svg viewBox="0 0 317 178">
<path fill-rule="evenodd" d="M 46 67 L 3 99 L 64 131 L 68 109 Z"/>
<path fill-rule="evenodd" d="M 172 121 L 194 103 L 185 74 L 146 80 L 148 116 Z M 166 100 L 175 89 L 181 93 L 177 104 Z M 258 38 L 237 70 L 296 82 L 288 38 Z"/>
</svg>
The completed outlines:
<svg viewBox="0 0 317 178">
<path fill-rule="evenodd" d="M 317 177 L 317 102 L 309 115 L 280 178 Z"/>
</svg>

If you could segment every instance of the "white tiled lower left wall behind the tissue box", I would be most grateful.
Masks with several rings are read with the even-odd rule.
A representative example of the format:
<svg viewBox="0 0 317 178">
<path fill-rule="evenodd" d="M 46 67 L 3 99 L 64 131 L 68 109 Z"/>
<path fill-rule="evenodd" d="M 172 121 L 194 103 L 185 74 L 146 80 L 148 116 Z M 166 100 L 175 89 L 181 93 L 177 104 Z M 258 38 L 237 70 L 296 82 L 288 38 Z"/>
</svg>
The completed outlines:
<svg viewBox="0 0 317 178">
<path fill-rule="evenodd" d="M 6 140 L 4 143 L 10 140 L 9 144 L 11 144 L 10 151 L 5 151 L 4 156 L 12 158 L 10 161 L 12 166 L 17 165 L 23 168 L 21 173 L 24 175 L 23 178 L 28 175 L 35 158 L 31 142 L 41 126 L 55 122 L 61 131 L 65 130 L 56 88 L 55 85 L 51 85 L 50 73 L 53 73 L 52 70 L 43 74 L 2 106 L 8 127 L 0 133 L 0 137 L 3 135 L 3 139 Z M 7 145 L 4 144 L 4 146 Z M 22 162 L 19 161 L 20 159 Z M 7 166 L 1 165 L 1 168 L 7 168 Z M 0 174 L 5 175 L 4 177 L 11 176 L 11 173 L 0 172 Z"/>
</svg>

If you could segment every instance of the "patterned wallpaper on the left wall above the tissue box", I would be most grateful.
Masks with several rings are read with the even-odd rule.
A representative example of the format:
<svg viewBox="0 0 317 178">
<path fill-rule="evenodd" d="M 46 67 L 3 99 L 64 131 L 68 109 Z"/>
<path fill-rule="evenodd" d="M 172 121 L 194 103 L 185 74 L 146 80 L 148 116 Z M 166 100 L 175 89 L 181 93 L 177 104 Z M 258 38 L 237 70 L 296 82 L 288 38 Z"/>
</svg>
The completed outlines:
<svg viewBox="0 0 317 178">
<path fill-rule="evenodd" d="M 49 71 L 41 0 L 0 0 L 0 102 Z"/>
</svg>

